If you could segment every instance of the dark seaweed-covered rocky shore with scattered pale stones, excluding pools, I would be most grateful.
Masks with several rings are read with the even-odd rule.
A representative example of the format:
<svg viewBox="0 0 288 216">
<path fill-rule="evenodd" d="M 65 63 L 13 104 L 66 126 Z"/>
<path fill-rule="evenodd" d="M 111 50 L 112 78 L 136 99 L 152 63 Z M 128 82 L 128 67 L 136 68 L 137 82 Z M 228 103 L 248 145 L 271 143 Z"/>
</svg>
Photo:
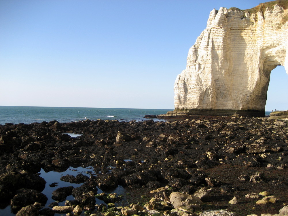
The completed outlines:
<svg viewBox="0 0 288 216">
<path fill-rule="evenodd" d="M 11 203 L 16 215 L 35 216 L 285 215 L 287 144 L 287 122 L 269 118 L 7 123 L 0 125 L 1 208 Z M 75 199 L 43 209 L 49 186 L 40 169 L 69 166 L 92 166 L 96 175 L 61 177 L 83 184 L 55 190 L 55 201 Z M 130 195 L 97 191 L 118 185 Z M 119 206 L 123 200 L 129 205 Z"/>
</svg>

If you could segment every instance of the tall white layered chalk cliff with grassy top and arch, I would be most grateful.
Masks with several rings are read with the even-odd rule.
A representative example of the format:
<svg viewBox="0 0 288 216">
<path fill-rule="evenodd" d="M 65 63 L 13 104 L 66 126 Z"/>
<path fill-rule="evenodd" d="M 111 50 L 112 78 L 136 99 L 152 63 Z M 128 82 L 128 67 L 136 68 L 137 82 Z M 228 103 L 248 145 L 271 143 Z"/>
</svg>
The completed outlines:
<svg viewBox="0 0 288 216">
<path fill-rule="evenodd" d="M 175 81 L 173 114 L 264 115 L 271 70 L 288 71 L 286 5 L 212 10 Z"/>
</svg>

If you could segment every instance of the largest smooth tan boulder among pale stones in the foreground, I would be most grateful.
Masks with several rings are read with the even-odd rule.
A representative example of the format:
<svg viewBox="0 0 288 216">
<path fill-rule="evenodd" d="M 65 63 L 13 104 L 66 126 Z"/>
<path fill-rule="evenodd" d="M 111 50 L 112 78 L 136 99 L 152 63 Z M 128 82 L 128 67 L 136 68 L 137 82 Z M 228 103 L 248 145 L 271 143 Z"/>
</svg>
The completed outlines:
<svg viewBox="0 0 288 216">
<path fill-rule="evenodd" d="M 203 203 L 197 196 L 183 193 L 173 192 L 169 198 L 175 209 L 188 211 L 190 213 L 201 210 L 200 204 Z"/>
</svg>

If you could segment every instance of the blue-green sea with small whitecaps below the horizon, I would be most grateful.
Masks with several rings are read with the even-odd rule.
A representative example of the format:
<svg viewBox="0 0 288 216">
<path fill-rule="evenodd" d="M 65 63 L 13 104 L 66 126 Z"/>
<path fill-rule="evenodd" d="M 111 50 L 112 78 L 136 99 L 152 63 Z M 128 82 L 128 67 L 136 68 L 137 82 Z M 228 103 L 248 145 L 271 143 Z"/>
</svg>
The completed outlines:
<svg viewBox="0 0 288 216">
<path fill-rule="evenodd" d="M 0 106 L 0 124 L 30 124 L 34 122 L 78 122 L 89 120 L 144 121 L 145 115 L 166 114 L 173 109 L 127 109 L 127 108 L 88 108 L 88 107 L 26 107 Z M 265 115 L 270 115 L 266 111 Z M 155 121 L 163 121 L 155 119 Z"/>
</svg>

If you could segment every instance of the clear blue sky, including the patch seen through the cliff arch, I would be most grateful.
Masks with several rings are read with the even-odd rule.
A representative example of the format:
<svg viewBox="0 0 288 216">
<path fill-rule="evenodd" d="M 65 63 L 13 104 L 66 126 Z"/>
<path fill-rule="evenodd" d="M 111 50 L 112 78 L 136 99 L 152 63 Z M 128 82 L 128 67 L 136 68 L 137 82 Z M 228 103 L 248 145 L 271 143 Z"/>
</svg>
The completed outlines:
<svg viewBox="0 0 288 216">
<path fill-rule="evenodd" d="M 261 2 L 0 0 L 0 105 L 174 109 L 210 11 Z M 272 71 L 267 111 L 288 109 L 287 81 Z"/>
</svg>

